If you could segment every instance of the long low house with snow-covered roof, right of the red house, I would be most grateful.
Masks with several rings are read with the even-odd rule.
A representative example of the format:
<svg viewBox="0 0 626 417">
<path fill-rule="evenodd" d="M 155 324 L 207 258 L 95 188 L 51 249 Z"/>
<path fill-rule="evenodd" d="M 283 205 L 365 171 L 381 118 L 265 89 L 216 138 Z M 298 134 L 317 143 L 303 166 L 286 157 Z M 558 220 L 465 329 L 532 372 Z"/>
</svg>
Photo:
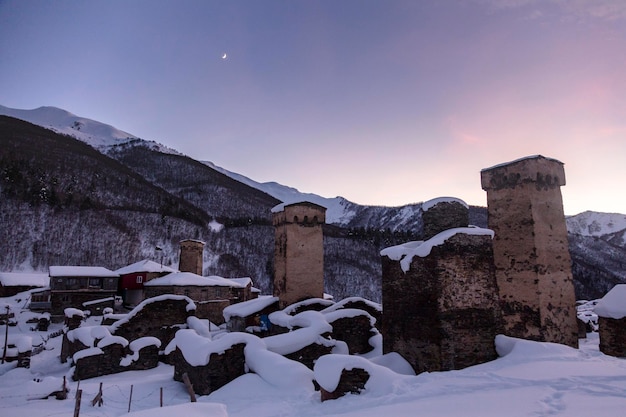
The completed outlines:
<svg viewBox="0 0 626 417">
<path fill-rule="evenodd" d="M 251 281 L 249 283 L 251 286 Z M 224 322 L 225 307 L 243 301 L 246 287 L 236 280 L 216 275 L 203 277 L 192 272 L 173 272 L 144 284 L 146 298 L 164 294 L 184 295 L 196 303 L 196 316 L 215 324 Z M 251 293 L 251 291 L 250 291 Z"/>
</svg>

